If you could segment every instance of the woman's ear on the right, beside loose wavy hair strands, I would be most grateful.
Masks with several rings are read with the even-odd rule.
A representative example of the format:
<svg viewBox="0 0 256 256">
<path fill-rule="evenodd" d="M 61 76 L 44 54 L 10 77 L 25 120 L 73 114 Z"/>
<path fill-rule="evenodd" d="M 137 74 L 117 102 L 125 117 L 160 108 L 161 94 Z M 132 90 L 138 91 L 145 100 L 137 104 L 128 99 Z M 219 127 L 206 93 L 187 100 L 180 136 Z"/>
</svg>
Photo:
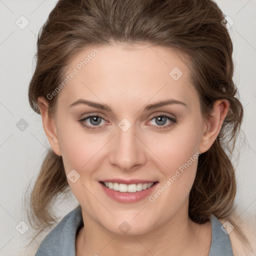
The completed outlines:
<svg viewBox="0 0 256 256">
<path fill-rule="evenodd" d="M 215 141 L 228 112 L 228 108 L 229 101 L 227 99 L 218 99 L 214 102 L 210 116 L 204 121 L 203 135 L 199 146 L 201 153 L 206 152 Z"/>
</svg>

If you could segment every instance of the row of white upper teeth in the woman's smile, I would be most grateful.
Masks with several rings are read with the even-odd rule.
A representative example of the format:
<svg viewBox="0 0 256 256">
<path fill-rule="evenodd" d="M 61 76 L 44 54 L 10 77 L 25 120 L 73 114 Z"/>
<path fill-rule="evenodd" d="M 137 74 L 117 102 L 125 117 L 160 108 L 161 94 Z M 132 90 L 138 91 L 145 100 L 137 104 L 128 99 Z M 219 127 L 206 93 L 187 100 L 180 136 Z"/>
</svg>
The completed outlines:
<svg viewBox="0 0 256 256">
<path fill-rule="evenodd" d="M 103 182 L 103 184 L 115 191 L 119 192 L 130 192 L 130 193 L 135 193 L 137 191 L 145 190 L 153 185 L 154 182 L 150 183 L 138 183 L 138 184 L 123 184 L 123 183 L 112 183 L 112 182 Z"/>
</svg>

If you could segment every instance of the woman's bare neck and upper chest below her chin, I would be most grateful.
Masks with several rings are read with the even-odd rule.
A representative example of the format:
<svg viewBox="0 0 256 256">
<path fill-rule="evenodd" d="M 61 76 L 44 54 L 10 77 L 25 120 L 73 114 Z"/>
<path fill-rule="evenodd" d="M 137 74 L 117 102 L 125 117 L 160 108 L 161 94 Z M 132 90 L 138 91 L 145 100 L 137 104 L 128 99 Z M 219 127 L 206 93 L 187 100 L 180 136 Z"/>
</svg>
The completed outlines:
<svg viewBox="0 0 256 256">
<path fill-rule="evenodd" d="M 185 214 L 186 213 L 186 214 Z M 88 216 L 77 235 L 77 253 L 80 255 L 208 255 L 211 226 L 194 223 L 187 214 L 178 212 L 167 222 L 147 233 L 119 235 L 109 232 Z"/>
</svg>

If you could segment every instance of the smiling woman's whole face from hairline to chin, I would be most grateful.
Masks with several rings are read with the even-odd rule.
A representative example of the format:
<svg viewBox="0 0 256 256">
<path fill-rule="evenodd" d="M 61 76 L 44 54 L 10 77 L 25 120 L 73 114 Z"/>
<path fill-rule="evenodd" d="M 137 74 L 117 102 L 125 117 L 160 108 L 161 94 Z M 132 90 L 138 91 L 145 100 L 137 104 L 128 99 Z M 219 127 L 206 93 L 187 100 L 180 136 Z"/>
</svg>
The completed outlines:
<svg viewBox="0 0 256 256">
<path fill-rule="evenodd" d="M 51 146 L 88 222 L 142 234 L 187 217 L 198 154 L 213 141 L 183 61 L 164 47 L 116 44 L 69 63 Z"/>
</svg>

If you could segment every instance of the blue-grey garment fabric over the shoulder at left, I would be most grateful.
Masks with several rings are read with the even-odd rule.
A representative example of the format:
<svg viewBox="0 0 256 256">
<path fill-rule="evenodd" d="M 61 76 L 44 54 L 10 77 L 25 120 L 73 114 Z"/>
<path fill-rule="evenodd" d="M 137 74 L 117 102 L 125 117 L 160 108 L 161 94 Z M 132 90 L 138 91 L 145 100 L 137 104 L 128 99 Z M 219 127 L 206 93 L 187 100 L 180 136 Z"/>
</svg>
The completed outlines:
<svg viewBox="0 0 256 256">
<path fill-rule="evenodd" d="M 43 238 L 35 256 L 75 256 L 75 236 L 82 224 L 81 208 L 78 205 Z"/>
</svg>

